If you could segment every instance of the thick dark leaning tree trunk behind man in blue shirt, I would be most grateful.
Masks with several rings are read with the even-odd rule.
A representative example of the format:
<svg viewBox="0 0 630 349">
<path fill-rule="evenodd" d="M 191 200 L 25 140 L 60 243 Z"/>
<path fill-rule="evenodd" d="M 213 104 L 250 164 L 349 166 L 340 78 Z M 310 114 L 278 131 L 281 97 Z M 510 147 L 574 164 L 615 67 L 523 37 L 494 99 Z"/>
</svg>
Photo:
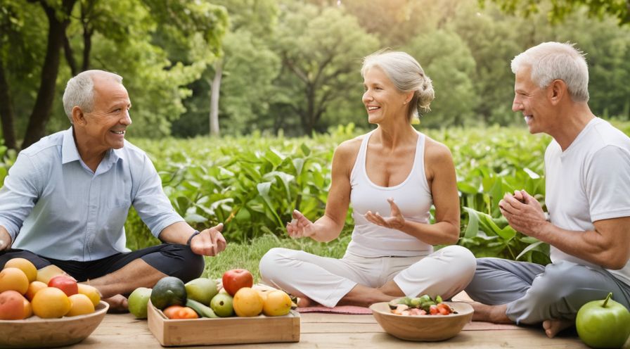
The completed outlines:
<svg viewBox="0 0 630 349">
<path fill-rule="evenodd" d="M 61 49 L 65 38 L 65 28 L 70 23 L 70 12 L 75 1 L 63 0 L 62 11 L 65 18 L 62 20 L 57 18 L 55 8 L 51 8 L 46 1 L 40 2 L 49 22 L 48 44 L 46 46 L 44 65 L 41 68 L 41 81 L 39 83 L 39 91 L 37 91 L 37 99 L 28 120 L 26 134 L 22 142 L 23 149 L 39 141 L 46 132 L 46 123 L 51 117 L 53 99 L 55 98 L 55 87 L 59 72 Z"/>
</svg>

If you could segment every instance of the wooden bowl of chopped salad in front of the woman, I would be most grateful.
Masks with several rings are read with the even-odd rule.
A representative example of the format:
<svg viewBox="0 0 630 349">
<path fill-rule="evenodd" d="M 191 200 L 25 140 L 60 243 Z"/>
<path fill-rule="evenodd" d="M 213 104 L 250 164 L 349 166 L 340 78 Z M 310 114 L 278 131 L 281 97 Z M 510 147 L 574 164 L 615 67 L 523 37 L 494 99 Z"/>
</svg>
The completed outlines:
<svg viewBox="0 0 630 349">
<path fill-rule="evenodd" d="M 397 298 L 374 303 L 370 309 L 385 332 L 406 341 L 444 341 L 473 319 L 470 304 L 443 302 L 439 296 Z"/>
</svg>

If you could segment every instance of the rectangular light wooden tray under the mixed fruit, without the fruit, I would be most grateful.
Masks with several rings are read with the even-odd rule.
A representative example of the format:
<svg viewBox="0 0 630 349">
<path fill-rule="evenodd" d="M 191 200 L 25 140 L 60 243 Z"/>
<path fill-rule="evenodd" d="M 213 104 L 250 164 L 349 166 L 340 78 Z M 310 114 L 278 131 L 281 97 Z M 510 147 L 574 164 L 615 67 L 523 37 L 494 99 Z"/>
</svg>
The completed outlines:
<svg viewBox="0 0 630 349">
<path fill-rule="evenodd" d="M 164 346 L 277 343 L 300 341 L 300 313 L 281 317 L 222 317 L 168 319 L 148 304 L 148 326 Z"/>
</svg>

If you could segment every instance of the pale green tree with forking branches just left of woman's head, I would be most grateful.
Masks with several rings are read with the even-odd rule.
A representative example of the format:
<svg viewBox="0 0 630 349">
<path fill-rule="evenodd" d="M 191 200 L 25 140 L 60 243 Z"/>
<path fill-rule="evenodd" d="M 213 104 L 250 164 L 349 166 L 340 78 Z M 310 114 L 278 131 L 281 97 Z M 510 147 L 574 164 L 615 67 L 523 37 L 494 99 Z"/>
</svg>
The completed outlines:
<svg viewBox="0 0 630 349">
<path fill-rule="evenodd" d="M 310 135 L 325 130 L 319 121 L 331 102 L 361 91 L 361 58 L 378 48 L 378 40 L 340 8 L 285 6 L 274 45 L 283 65 L 274 109 L 297 115 Z"/>
</svg>

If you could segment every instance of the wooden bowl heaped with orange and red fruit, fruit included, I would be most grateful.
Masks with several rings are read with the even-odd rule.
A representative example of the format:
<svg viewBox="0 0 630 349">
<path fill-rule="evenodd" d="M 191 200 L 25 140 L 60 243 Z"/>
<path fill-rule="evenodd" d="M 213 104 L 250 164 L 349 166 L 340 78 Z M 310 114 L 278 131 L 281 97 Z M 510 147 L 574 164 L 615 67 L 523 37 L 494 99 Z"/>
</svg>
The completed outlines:
<svg viewBox="0 0 630 349">
<path fill-rule="evenodd" d="M 109 305 L 96 288 L 77 284 L 51 265 L 35 269 L 23 258 L 0 271 L 0 348 L 79 343 L 101 324 Z"/>
</svg>

